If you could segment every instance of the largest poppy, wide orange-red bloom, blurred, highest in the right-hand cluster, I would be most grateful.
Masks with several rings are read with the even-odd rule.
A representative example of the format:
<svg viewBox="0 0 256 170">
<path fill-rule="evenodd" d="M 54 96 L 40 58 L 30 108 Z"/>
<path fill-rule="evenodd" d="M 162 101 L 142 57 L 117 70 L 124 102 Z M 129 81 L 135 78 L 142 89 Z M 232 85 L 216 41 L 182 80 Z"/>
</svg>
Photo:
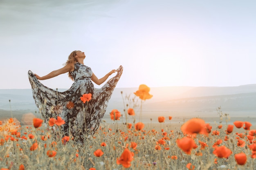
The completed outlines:
<svg viewBox="0 0 256 170">
<path fill-rule="evenodd" d="M 208 135 L 206 124 L 203 119 L 192 118 L 182 125 L 181 130 L 185 134 L 192 135 L 194 133 L 200 133 Z"/>
</svg>

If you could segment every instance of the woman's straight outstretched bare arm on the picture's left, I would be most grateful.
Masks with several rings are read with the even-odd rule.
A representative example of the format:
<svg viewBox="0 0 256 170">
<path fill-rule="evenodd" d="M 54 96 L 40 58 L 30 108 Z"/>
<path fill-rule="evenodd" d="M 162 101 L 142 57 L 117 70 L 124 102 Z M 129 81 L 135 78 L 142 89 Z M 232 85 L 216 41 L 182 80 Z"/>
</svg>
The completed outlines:
<svg viewBox="0 0 256 170">
<path fill-rule="evenodd" d="M 35 74 L 35 76 L 39 80 L 44 80 L 44 79 L 50 79 L 52 77 L 56 77 L 56 76 L 58 76 L 60 74 L 67 73 L 67 72 L 73 71 L 73 70 L 74 70 L 74 64 L 70 63 L 70 64 L 65 65 L 63 68 L 60 68 L 58 70 L 54 70 L 51 73 L 49 73 L 49 74 L 47 74 L 47 75 L 45 75 L 43 77 L 40 77 L 37 74 Z"/>
</svg>

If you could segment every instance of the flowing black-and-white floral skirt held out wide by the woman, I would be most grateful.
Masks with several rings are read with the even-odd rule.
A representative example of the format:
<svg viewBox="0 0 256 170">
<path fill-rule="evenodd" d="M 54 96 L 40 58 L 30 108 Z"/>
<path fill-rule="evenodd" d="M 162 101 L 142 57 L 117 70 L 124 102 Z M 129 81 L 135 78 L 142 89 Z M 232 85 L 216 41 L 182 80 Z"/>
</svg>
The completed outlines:
<svg viewBox="0 0 256 170">
<path fill-rule="evenodd" d="M 28 71 L 28 77 L 36 106 L 45 123 L 51 117 L 59 116 L 65 121 L 61 128 L 64 134 L 83 141 L 84 134 L 94 134 L 98 129 L 122 72 L 123 67 L 119 66 L 117 75 L 101 88 L 94 88 L 90 79 L 80 79 L 64 92 L 44 86 L 31 71 Z M 80 97 L 88 93 L 92 94 L 92 99 L 84 104 Z"/>
</svg>

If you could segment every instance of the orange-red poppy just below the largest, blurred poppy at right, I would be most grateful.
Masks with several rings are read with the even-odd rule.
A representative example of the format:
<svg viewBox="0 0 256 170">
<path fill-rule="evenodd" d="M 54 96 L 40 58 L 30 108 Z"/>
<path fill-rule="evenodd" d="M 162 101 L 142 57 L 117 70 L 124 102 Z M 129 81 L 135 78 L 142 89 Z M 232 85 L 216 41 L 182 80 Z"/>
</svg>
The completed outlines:
<svg viewBox="0 0 256 170">
<path fill-rule="evenodd" d="M 198 147 L 195 144 L 195 141 L 189 137 L 183 137 L 182 139 L 177 139 L 177 145 L 188 155 L 190 155 L 191 150 L 193 148 Z"/>
</svg>

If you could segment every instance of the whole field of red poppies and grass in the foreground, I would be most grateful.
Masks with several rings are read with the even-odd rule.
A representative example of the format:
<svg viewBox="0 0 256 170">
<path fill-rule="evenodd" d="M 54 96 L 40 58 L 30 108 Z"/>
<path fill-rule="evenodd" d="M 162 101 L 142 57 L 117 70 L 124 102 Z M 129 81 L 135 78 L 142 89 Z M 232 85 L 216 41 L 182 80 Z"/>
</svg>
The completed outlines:
<svg viewBox="0 0 256 170">
<path fill-rule="evenodd" d="M 134 94 L 144 101 L 152 97 L 149 91 L 141 85 Z M 138 112 L 126 107 L 106 113 L 112 122 L 102 121 L 83 144 L 62 134 L 60 126 L 67 122 L 61 117 L 46 123 L 34 118 L 31 126 L 12 117 L 0 121 L 0 170 L 256 169 L 256 130 L 248 121 L 222 124 L 218 110 L 217 126 L 195 117 L 174 128 L 173 115 L 159 115 L 152 126 L 143 123 L 141 105 Z M 126 122 L 119 122 L 121 115 Z"/>
</svg>

